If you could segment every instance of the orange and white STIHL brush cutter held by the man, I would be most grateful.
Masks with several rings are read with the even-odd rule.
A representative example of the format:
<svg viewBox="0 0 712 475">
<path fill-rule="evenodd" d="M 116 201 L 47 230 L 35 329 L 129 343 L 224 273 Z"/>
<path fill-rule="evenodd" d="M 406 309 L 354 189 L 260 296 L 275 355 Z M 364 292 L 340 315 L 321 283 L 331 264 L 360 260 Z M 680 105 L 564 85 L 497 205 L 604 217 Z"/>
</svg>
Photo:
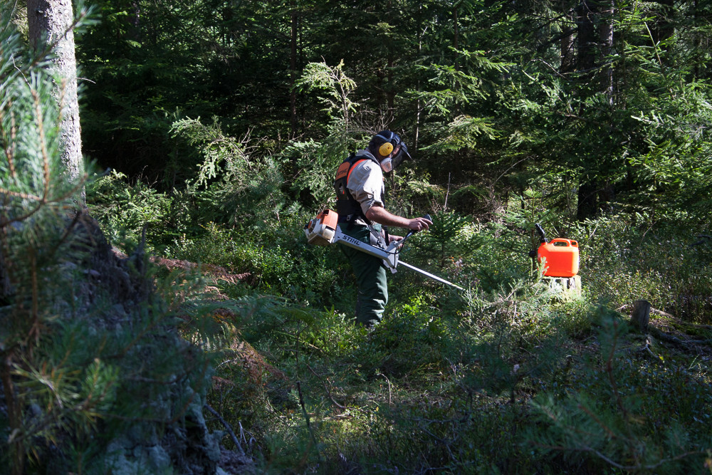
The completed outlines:
<svg viewBox="0 0 712 475">
<path fill-rule="evenodd" d="M 454 287 L 460 291 L 465 290 L 464 288 L 457 286 L 450 281 L 446 281 L 444 278 L 434 276 L 433 274 L 426 272 L 420 268 L 417 268 L 416 266 L 411 266 L 409 263 L 405 263 L 403 261 L 398 260 L 398 254 L 403 243 L 406 241 L 406 239 L 415 234 L 415 231 L 409 231 L 409 233 L 406 234 L 403 239 L 399 239 L 398 241 L 392 241 L 391 243 L 387 244 L 386 239 L 383 239 L 383 236 L 381 236 L 381 234 L 377 233 L 377 231 L 375 231 L 372 226 L 369 226 L 371 233 L 374 234 L 378 242 L 377 246 L 373 246 L 372 244 L 366 244 L 365 242 L 359 241 L 358 239 L 343 234 L 337 224 L 338 218 L 339 215 L 336 214 L 336 212 L 332 211 L 331 209 L 327 209 L 326 211 L 316 216 L 314 219 L 311 219 L 306 224 L 306 226 L 304 226 L 304 233 L 307 236 L 308 243 L 315 244 L 317 246 L 328 246 L 330 244 L 340 242 L 345 246 L 358 249 L 359 251 L 365 252 L 370 256 L 375 256 L 379 259 L 383 259 L 383 263 L 385 264 L 385 266 L 387 266 L 387 268 L 389 268 L 393 273 L 395 273 L 397 266 L 400 264 L 401 266 L 407 267 L 412 271 L 421 273 L 427 278 L 431 278 L 434 281 L 444 283 L 446 286 Z M 430 220 L 429 214 L 426 214 L 424 218 Z M 386 234 L 386 236 L 388 235 Z"/>
</svg>

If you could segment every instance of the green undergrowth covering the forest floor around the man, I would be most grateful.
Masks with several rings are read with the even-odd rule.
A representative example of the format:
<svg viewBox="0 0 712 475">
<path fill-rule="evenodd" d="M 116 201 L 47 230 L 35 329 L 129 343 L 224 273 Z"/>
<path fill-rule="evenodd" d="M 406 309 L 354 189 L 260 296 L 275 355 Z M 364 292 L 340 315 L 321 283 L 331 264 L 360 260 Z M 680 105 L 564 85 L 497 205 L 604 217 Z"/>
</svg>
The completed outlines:
<svg viewBox="0 0 712 475">
<path fill-rule="evenodd" d="M 693 231 L 568 225 L 583 283 L 570 298 L 537 277 L 519 226 L 438 212 L 401 257 L 466 291 L 401 269 L 367 331 L 340 251 L 305 244 L 309 217 L 206 221 L 162 248 L 250 274 L 214 282 L 241 310 L 210 317 L 226 343 L 211 348 L 223 421 L 209 424 L 264 473 L 708 471 L 711 244 Z M 640 298 L 676 340 L 629 325 Z"/>
</svg>

